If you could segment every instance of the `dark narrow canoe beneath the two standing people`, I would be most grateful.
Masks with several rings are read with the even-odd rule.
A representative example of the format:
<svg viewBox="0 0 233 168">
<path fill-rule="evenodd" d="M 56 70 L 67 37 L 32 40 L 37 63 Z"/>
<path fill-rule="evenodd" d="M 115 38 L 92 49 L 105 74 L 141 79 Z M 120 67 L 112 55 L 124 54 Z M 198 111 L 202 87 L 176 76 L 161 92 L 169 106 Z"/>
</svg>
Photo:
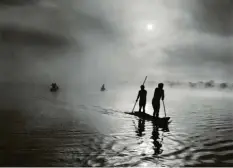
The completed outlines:
<svg viewBox="0 0 233 168">
<path fill-rule="evenodd" d="M 134 112 L 134 113 L 125 112 L 125 113 L 129 114 L 129 115 L 137 116 L 141 119 L 154 121 L 154 122 L 159 123 L 159 124 L 169 124 L 171 122 L 171 121 L 169 121 L 170 117 L 154 118 L 152 115 L 147 114 L 147 113 L 143 113 L 143 112 L 141 112 L 141 113 L 140 112 Z"/>
</svg>

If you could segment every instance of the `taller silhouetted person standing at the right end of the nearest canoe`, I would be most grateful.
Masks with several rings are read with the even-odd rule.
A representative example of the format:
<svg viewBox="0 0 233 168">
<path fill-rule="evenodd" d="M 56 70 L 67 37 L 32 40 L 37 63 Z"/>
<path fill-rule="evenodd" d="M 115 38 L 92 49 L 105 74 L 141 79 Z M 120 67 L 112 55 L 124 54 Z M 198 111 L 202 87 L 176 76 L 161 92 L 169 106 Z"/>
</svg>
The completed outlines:
<svg viewBox="0 0 233 168">
<path fill-rule="evenodd" d="M 152 106 L 154 109 L 153 116 L 159 117 L 159 109 L 160 109 L 160 99 L 164 100 L 164 90 L 163 83 L 159 83 L 158 87 L 155 89 L 154 97 L 152 99 Z"/>
</svg>

